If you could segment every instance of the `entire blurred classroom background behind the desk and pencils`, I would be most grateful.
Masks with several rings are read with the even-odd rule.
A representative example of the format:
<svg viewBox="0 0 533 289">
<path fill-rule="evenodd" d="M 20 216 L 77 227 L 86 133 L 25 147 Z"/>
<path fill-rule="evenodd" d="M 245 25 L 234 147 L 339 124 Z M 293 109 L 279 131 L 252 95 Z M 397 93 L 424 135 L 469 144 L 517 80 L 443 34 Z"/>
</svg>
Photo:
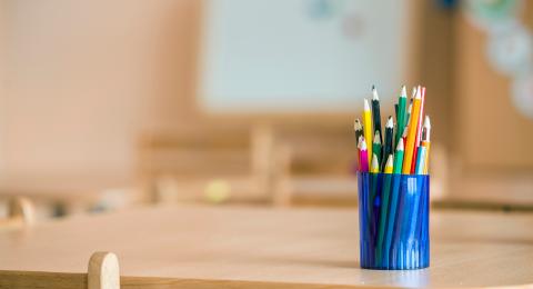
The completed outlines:
<svg viewBox="0 0 533 289">
<path fill-rule="evenodd" d="M 519 0 L 0 0 L 2 213 L 356 206 L 372 84 L 383 119 L 426 87 L 433 206 L 530 210 L 532 33 Z"/>
</svg>

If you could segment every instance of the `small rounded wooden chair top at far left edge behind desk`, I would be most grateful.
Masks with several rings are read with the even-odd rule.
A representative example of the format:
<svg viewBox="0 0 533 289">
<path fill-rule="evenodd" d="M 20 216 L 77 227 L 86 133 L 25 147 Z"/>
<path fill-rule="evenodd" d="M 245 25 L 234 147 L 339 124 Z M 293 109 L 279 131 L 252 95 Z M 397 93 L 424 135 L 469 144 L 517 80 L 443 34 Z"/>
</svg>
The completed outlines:
<svg viewBox="0 0 533 289">
<path fill-rule="evenodd" d="M 34 207 L 28 198 L 11 198 L 8 201 L 7 217 L 4 219 L 0 219 L 0 229 L 31 226 L 34 220 Z"/>
</svg>

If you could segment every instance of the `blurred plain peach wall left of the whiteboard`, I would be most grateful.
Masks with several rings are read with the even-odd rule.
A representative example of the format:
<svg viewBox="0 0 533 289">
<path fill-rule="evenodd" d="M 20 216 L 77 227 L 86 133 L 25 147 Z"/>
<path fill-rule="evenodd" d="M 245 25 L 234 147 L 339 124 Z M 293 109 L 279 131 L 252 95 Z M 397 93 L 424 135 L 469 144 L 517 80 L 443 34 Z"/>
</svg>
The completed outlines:
<svg viewBox="0 0 533 289">
<path fill-rule="evenodd" d="M 3 177 L 130 178 L 140 131 L 187 111 L 199 2 L 1 0 Z"/>
</svg>

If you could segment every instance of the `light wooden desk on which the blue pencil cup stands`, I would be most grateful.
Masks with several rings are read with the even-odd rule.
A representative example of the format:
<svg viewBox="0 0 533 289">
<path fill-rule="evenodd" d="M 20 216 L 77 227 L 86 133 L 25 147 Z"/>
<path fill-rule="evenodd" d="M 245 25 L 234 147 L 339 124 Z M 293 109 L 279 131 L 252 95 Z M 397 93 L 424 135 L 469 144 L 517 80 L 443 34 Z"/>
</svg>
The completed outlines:
<svg viewBox="0 0 533 289">
<path fill-rule="evenodd" d="M 0 270 L 86 272 L 108 250 L 122 288 L 533 286 L 533 215 L 433 211 L 431 227 L 430 269 L 376 271 L 359 266 L 355 209 L 143 208 L 3 231 Z"/>
</svg>

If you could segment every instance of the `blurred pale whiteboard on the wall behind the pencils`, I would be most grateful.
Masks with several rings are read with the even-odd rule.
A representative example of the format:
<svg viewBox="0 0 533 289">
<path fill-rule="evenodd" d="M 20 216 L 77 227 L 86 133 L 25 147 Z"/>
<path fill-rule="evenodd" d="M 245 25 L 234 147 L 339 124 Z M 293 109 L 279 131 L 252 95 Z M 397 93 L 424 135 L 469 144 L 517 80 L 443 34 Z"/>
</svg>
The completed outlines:
<svg viewBox="0 0 533 289">
<path fill-rule="evenodd" d="M 351 111 L 372 84 L 398 97 L 406 0 L 205 1 L 200 107 L 212 112 Z"/>
</svg>

